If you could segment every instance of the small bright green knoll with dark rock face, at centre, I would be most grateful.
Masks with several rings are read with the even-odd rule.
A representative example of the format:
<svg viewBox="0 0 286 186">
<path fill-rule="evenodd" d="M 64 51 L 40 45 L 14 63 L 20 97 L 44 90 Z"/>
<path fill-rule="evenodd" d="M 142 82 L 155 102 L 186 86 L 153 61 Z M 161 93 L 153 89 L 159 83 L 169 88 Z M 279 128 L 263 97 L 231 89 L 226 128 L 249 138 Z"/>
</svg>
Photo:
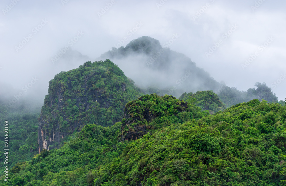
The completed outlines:
<svg viewBox="0 0 286 186">
<path fill-rule="evenodd" d="M 182 123 L 190 119 L 209 115 L 208 110 L 201 112 L 194 103 L 180 101 L 173 96 L 144 95 L 130 101 L 125 106 L 124 119 L 121 126 L 121 139 L 134 140 L 147 132 L 168 126 L 172 123 Z"/>
</svg>

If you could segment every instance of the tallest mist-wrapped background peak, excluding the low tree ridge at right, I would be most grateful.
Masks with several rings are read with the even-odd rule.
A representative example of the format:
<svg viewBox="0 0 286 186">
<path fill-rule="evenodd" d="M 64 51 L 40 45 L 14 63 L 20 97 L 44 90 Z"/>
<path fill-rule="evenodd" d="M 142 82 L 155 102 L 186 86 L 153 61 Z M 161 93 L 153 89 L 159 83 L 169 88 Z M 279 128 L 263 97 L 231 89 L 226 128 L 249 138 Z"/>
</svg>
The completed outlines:
<svg viewBox="0 0 286 186">
<path fill-rule="evenodd" d="M 138 87 L 157 87 L 161 90 L 160 95 L 180 97 L 184 92 L 215 91 L 220 86 L 190 58 L 163 48 L 158 40 L 148 36 L 135 39 L 126 47 L 112 48 L 99 59 L 112 60 Z"/>
</svg>

